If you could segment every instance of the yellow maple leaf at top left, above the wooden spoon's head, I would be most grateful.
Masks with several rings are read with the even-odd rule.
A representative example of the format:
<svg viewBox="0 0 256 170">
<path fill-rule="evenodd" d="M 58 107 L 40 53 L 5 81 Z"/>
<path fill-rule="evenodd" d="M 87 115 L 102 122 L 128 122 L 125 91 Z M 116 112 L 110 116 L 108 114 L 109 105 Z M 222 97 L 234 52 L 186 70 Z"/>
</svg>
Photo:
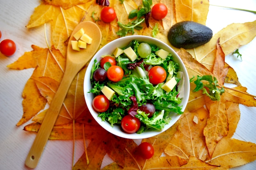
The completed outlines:
<svg viewBox="0 0 256 170">
<path fill-rule="evenodd" d="M 65 56 L 67 52 L 65 43 L 76 25 L 81 22 L 84 14 L 85 10 L 77 6 L 64 9 L 59 6 L 41 3 L 35 8 L 26 27 L 34 28 L 50 22 L 53 45 Z"/>
</svg>

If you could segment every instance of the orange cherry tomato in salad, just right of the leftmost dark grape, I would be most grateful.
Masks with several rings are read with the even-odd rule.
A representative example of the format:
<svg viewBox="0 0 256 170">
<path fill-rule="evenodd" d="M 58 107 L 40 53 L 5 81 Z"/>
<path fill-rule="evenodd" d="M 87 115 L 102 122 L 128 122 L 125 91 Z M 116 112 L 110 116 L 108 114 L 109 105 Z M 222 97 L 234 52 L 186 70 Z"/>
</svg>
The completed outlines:
<svg viewBox="0 0 256 170">
<path fill-rule="evenodd" d="M 110 81 L 118 82 L 124 76 L 124 70 L 117 65 L 112 65 L 107 70 L 107 76 Z"/>
</svg>

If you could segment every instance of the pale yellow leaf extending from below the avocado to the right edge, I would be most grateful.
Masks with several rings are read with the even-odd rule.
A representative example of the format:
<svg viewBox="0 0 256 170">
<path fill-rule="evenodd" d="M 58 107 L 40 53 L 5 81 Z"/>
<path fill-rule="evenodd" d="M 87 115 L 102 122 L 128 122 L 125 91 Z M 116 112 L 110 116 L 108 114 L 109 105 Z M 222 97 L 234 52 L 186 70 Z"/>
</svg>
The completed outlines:
<svg viewBox="0 0 256 170">
<path fill-rule="evenodd" d="M 233 23 L 213 35 L 207 44 L 187 51 L 209 70 L 212 70 L 216 54 L 216 41 L 218 38 L 220 38 L 220 45 L 222 46 L 223 52 L 227 55 L 240 46 L 248 44 L 255 36 L 256 21 Z"/>
</svg>

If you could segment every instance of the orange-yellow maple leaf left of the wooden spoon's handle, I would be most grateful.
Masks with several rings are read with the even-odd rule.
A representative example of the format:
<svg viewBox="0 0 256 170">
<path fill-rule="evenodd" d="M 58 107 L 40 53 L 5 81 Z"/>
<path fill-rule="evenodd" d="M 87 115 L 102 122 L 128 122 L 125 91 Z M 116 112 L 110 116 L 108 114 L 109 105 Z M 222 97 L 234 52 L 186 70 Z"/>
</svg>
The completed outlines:
<svg viewBox="0 0 256 170">
<path fill-rule="evenodd" d="M 17 61 L 7 65 L 8 68 L 16 70 L 35 68 L 22 92 L 23 116 L 17 126 L 30 120 L 45 107 L 46 99 L 40 94 L 33 78 L 47 76 L 56 81 L 61 81 L 65 70 L 66 60 L 58 50 L 52 48 L 51 53 L 47 48 L 40 48 L 34 45 L 32 45 L 32 48 L 34 50 L 25 52 Z"/>
</svg>

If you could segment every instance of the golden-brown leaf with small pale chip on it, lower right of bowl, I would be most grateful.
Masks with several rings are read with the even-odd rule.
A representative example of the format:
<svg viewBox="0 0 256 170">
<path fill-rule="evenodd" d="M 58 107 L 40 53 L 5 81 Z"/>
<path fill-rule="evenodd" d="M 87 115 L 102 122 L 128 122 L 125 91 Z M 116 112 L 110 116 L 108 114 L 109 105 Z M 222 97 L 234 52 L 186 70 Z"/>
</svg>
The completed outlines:
<svg viewBox="0 0 256 170">
<path fill-rule="evenodd" d="M 197 157 L 202 161 L 209 159 L 209 153 L 203 135 L 204 126 L 207 122 L 208 111 L 200 109 L 189 112 L 185 111 L 180 120 L 178 131 L 165 148 L 165 153 L 170 156 L 179 156 L 188 160 L 190 156 Z M 193 122 L 193 118 L 198 118 L 198 124 Z"/>
</svg>

